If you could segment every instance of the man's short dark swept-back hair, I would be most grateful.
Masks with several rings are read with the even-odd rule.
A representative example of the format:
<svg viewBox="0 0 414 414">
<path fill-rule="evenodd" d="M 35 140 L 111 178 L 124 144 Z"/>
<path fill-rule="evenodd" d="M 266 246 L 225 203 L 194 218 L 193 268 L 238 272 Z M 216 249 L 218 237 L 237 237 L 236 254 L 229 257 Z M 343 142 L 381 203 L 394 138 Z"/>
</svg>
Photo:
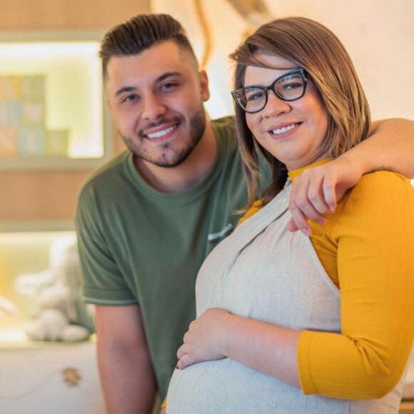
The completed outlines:
<svg viewBox="0 0 414 414">
<path fill-rule="evenodd" d="M 138 55 L 151 46 L 168 40 L 175 41 L 196 59 L 183 26 L 168 14 L 138 14 L 125 23 L 118 24 L 106 33 L 101 42 L 99 56 L 102 59 L 104 78 L 111 57 Z"/>
</svg>

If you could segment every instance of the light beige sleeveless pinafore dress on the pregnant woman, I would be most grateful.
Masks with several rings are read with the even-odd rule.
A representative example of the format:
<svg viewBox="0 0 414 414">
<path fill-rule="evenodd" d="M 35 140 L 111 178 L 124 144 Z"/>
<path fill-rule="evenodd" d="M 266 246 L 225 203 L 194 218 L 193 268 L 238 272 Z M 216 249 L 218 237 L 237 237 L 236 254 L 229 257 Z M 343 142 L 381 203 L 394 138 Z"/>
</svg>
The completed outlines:
<svg viewBox="0 0 414 414">
<path fill-rule="evenodd" d="M 206 258 L 197 315 L 219 307 L 288 328 L 340 332 L 340 296 L 309 238 L 290 233 L 291 186 L 242 223 Z M 298 388 L 225 358 L 175 370 L 167 414 L 398 413 L 401 382 L 378 400 L 303 395 Z"/>
</svg>

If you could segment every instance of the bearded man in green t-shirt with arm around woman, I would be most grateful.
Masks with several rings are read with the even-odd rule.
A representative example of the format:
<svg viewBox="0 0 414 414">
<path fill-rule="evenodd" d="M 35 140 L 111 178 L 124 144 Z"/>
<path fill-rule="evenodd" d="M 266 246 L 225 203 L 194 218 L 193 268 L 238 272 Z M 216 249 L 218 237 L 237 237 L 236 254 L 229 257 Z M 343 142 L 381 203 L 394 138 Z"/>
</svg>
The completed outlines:
<svg viewBox="0 0 414 414">
<path fill-rule="evenodd" d="M 106 34 L 101 59 L 128 150 L 94 173 L 79 198 L 84 296 L 96 306 L 108 413 L 149 413 L 155 391 L 166 395 L 195 316 L 198 268 L 236 226 L 246 188 L 233 119 L 208 120 L 208 79 L 177 21 L 133 17 Z M 412 175 L 414 143 L 391 143 L 395 128 L 414 131 L 409 121 L 388 121 L 375 139 L 306 176 L 291 200 L 292 230 L 306 233 L 306 217 L 321 220 L 365 172 L 386 166 Z"/>
</svg>

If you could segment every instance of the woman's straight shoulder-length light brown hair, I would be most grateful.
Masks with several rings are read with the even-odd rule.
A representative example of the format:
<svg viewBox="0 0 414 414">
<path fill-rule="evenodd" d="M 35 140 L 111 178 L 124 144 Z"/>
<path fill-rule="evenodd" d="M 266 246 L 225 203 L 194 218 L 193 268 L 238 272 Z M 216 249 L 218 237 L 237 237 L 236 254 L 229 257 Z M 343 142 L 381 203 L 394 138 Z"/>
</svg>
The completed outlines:
<svg viewBox="0 0 414 414">
<path fill-rule="evenodd" d="M 236 62 L 234 89 L 244 85 L 247 66 L 261 66 L 257 53 L 281 56 L 306 69 L 328 112 L 328 131 L 321 153 L 335 158 L 368 136 L 370 110 L 353 63 L 337 36 L 316 21 L 304 17 L 277 19 L 263 24 L 238 46 L 230 58 Z M 287 171 L 281 161 L 256 143 L 246 114 L 236 105 L 238 145 L 248 185 L 248 206 L 258 196 L 258 152 L 273 168 L 273 181 L 263 204 L 281 191 Z"/>
</svg>

